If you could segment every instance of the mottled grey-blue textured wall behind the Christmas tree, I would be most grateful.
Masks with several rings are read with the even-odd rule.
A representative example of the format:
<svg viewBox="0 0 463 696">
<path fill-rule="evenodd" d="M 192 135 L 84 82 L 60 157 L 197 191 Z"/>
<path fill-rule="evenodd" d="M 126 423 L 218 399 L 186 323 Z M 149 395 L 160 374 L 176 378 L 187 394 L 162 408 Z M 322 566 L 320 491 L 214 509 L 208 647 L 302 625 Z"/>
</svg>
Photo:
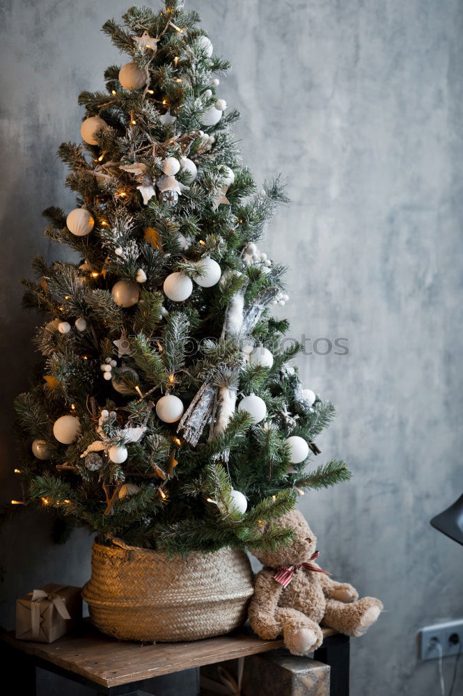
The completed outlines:
<svg viewBox="0 0 463 696">
<path fill-rule="evenodd" d="M 386 606 L 368 639 L 353 641 L 353 693 L 437 693 L 437 665 L 417 664 L 414 634 L 463 615 L 463 550 L 428 524 L 462 489 L 462 3 L 195 6 L 233 62 L 221 92 L 242 112 L 245 161 L 259 179 L 288 177 L 291 205 L 262 250 L 290 267 L 292 333 L 349 339 L 348 356 L 299 364 L 307 386 L 338 406 L 320 459 L 343 456 L 355 475 L 301 507 L 324 567 Z M 17 278 L 33 252 L 59 252 L 40 219 L 47 205 L 72 205 L 54 152 L 79 137 L 79 91 L 99 88 L 102 70 L 121 60 L 99 29 L 124 9 L 120 0 L 3 0 L 5 500 L 15 491 L 10 400 L 33 359 L 34 317 L 19 310 Z M 48 532 L 24 519 L 4 535 L 3 622 L 17 594 L 88 576 L 89 537 L 56 548 Z"/>
</svg>

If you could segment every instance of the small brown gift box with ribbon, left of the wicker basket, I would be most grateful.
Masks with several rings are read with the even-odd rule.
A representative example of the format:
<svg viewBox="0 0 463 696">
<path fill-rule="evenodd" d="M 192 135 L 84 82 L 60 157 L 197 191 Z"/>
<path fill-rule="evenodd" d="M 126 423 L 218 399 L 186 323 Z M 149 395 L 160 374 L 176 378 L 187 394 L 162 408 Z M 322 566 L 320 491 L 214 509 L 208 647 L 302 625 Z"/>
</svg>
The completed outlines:
<svg viewBox="0 0 463 696">
<path fill-rule="evenodd" d="M 52 643 L 81 620 L 81 587 L 44 585 L 16 601 L 16 638 Z"/>
</svg>

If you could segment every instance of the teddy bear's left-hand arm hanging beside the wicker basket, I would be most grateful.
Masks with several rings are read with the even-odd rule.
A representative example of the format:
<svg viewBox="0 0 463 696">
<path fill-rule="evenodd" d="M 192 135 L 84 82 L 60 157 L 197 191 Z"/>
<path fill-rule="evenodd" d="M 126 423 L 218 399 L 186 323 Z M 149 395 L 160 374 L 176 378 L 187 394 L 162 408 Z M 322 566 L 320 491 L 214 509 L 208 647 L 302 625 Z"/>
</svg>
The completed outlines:
<svg viewBox="0 0 463 696">
<path fill-rule="evenodd" d="M 249 604 L 249 623 L 253 631 L 265 640 L 274 640 L 283 630 L 278 617 L 278 600 L 283 587 L 273 574 L 262 569 L 256 576 L 254 594 Z"/>
</svg>

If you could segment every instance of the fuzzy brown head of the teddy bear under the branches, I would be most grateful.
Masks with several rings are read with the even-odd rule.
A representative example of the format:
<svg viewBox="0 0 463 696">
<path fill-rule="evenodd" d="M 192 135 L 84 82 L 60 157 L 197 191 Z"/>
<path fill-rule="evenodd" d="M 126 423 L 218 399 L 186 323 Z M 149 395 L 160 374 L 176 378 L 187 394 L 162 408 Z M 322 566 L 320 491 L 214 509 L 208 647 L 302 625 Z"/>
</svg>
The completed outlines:
<svg viewBox="0 0 463 696">
<path fill-rule="evenodd" d="M 253 555 L 265 566 L 278 568 L 285 565 L 297 565 L 311 559 L 317 548 L 317 537 L 306 523 L 304 516 L 299 510 L 290 510 L 272 524 L 276 528 L 291 527 L 295 532 L 295 537 L 289 546 L 280 546 L 276 551 L 260 551 L 251 549 Z M 268 530 L 269 523 L 262 531 Z"/>
</svg>

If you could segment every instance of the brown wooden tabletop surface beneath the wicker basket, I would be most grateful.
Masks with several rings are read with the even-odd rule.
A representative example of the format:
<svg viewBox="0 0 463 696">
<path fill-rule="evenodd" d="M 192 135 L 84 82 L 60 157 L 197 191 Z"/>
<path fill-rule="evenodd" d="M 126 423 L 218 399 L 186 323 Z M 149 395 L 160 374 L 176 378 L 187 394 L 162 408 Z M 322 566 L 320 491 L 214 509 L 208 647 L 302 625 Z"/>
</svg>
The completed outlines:
<svg viewBox="0 0 463 696">
<path fill-rule="evenodd" d="M 333 633 L 323 629 L 325 638 Z M 86 622 L 79 633 L 51 644 L 16 640 L 13 632 L 3 633 L 1 640 L 107 688 L 283 647 L 283 640 L 260 640 L 246 626 L 217 638 L 143 644 L 109 638 Z"/>
</svg>

